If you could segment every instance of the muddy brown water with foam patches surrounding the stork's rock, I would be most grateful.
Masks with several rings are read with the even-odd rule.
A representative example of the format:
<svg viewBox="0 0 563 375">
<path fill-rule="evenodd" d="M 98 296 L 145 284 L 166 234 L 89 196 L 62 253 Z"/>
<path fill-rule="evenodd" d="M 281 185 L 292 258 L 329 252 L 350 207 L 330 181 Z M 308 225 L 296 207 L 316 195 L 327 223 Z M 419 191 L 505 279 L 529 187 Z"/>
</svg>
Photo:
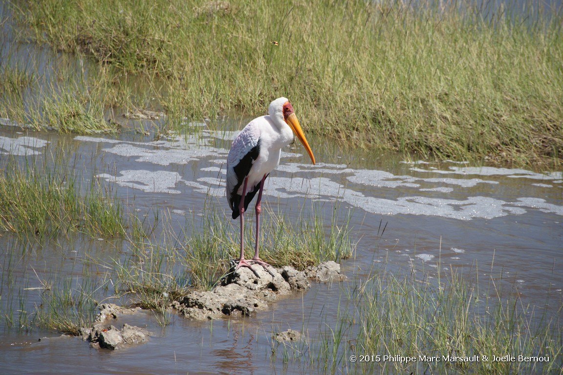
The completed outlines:
<svg viewBox="0 0 563 375">
<path fill-rule="evenodd" d="M 10 43 L 2 40 L 5 53 Z M 50 52 L 27 45 L 11 51 L 11 58 L 53 59 Z M 46 74 L 48 65 L 41 67 Z M 112 137 L 27 132 L 0 119 L 0 169 L 10 160 L 42 162 L 64 150 L 65 168 L 84 185 L 91 178 L 104 181 L 139 215 L 153 207 L 169 212 L 173 229 L 180 233 L 194 213 L 202 213 L 204 201 L 224 214 L 225 222 L 231 221 L 225 160 L 246 121 L 233 117 L 193 123 L 187 134 L 154 141 L 152 135 L 131 130 L 150 129 L 148 121 L 125 121 L 131 128 Z M 32 314 L 41 303 L 44 281 L 71 277 L 79 290 L 89 275 L 93 283 L 113 286 L 106 266 L 128 256 L 127 243 L 78 235 L 22 244 L 1 233 L 0 374 L 315 373 L 307 364 L 310 353 L 272 341 L 272 333 L 292 328 L 320 340 L 337 322 L 338 311 L 346 308 L 346 294 L 374 267 L 397 275 L 414 267 L 428 277 L 457 272 L 470 278 L 478 269 L 480 281 L 493 279 L 499 290 L 519 296 L 523 305 L 537 306 L 548 318 L 560 314 L 561 171 L 406 161 L 397 155 L 343 151 L 312 135 L 307 138 L 318 164 L 310 165 L 301 146 L 285 150 L 282 165 L 267 180 L 264 204 L 271 211 L 284 211 L 290 221 L 316 211 L 330 223 L 337 209 L 343 222 L 350 213 L 350 236 L 357 245 L 354 256 L 342 262 L 348 281 L 314 284 L 249 318 L 193 322 L 171 315 L 171 324 L 162 327 L 162 317 L 147 311 L 123 322 L 153 332 L 148 344 L 96 350 L 79 338 L 20 329 L 17 317 L 21 311 Z M 269 220 L 267 214 L 264 220 Z M 232 230 L 236 236 L 236 225 Z M 112 287 L 97 292 L 115 301 Z M 8 324 L 6 317 L 15 317 L 16 323 Z"/>
</svg>

